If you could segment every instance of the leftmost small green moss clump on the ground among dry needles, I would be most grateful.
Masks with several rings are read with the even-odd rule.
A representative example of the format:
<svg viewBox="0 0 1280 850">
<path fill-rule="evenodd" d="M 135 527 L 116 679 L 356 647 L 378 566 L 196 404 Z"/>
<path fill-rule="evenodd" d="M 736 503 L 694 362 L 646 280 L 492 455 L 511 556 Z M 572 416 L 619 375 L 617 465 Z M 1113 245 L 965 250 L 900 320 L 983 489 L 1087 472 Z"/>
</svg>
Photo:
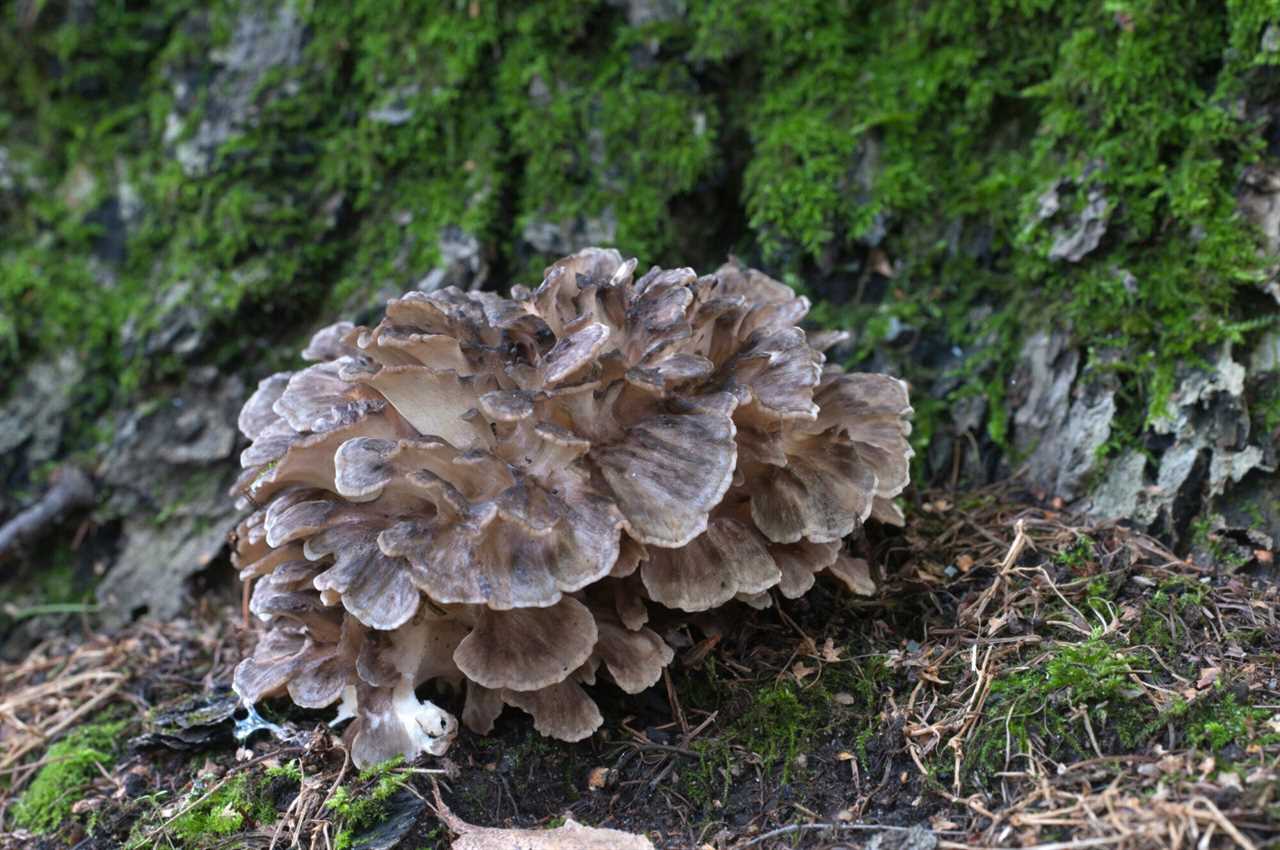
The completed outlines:
<svg viewBox="0 0 1280 850">
<path fill-rule="evenodd" d="M 68 822 L 72 806 L 100 771 L 115 763 L 127 726 L 127 721 L 95 721 L 50 746 L 44 757 L 47 763 L 13 806 L 13 823 L 45 833 Z"/>
</svg>

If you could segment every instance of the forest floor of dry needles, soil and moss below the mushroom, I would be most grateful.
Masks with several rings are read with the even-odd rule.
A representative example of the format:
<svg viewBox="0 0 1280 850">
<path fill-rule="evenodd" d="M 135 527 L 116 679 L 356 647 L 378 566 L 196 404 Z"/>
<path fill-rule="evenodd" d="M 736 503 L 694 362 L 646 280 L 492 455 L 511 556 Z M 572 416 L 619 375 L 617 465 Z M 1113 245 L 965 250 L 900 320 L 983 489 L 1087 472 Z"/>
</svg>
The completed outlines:
<svg viewBox="0 0 1280 850">
<path fill-rule="evenodd" d="M 673 635 L 664 684 L 595 689 L 588 741 L 508 710 L 366 773 L 283 704 L 236 740 L 238 605 L 47 641 L 0 666 L 0 847 L 443 850 L 433 786 L 471 823 L 657 847 L 1280 846 L 1271 553 L 1188 561 L 1009 485 L 873 544 L 876 598 L 819 582 Z"/>
</svg>

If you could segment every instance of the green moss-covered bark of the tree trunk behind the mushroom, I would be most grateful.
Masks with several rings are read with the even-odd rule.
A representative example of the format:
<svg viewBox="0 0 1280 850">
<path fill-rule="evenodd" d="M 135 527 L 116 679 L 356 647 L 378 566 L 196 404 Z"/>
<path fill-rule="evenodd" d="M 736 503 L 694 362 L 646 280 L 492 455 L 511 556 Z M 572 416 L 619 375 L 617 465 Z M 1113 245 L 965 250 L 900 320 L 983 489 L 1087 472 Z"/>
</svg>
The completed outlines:
<svg viewBox="0 0 1280 850">
<path fill-rule="evenodd" d="M 91 408 L 192 361 L 264 367 L 451 239 L 490 287 L 584 242 L 704 269 L 735 251 L 855 328 L 851 358 L 927 342 L 919 385 L 955 380 L 922 396 L 922 445 L 974 394 L 1006 439 L 1029 328 L 1069 324 L 1116 373 L 1115 448 L 1179 360 L 1270 321 L 1235 193 L 1272 133 L 1275 0 L 5 14 L 0 364 L 77 347 Z"/>
</svg>

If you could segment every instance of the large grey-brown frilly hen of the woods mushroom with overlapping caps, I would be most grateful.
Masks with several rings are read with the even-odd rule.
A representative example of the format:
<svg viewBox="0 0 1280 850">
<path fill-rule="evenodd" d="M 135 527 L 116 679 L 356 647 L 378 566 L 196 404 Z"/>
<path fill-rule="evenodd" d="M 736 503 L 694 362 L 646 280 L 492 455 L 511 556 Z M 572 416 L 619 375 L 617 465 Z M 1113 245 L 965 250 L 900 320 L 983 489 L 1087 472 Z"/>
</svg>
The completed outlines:
<svg viewBox="0 0 1280 850">
<path fill-rule="evenodd" d="M 465 686 L 476 732 L 513 705 L 576 741 L 602 722 L 582 685 L 639 693 L 671 662 L 650 613 L 764 607 L 823 571 L 865 588 L 842 540 L 902 521 L 905 384 L 824 364 L 837 335 L 759 271 L 635 266 L 586 250 L 511 298 L 410 292 L 259 385 L 246 702 L 338 703 L 357 766 L 445 750 L 430 680 Z"/>
</svg>

